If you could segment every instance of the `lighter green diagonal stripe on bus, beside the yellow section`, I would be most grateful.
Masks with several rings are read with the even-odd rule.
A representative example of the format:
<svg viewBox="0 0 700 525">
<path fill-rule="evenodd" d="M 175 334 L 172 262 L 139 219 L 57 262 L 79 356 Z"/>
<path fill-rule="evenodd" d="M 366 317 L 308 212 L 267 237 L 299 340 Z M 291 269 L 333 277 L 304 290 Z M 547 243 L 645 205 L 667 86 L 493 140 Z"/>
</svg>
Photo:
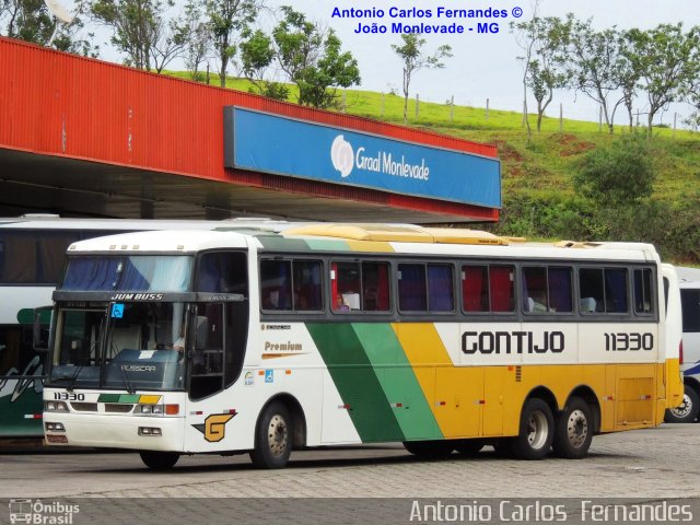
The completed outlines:
<svg viewBox="0 0 700 525">
<path fill-rule="evenodd" d="M 407 440 L 442 439 L 442 432 L 396 334 L 388 324 L 352 327 L 374 368 Z"/>
</svg>

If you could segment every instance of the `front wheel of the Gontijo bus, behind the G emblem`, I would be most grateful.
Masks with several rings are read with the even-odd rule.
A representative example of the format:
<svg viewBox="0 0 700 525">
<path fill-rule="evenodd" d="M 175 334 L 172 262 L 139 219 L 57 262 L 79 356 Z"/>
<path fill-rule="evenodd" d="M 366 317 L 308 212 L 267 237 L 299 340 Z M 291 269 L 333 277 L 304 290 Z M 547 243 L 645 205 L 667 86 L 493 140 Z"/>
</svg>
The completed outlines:
<svg viewBox="0 0 700 525">
<path fill-rule="evenodd" d="M 282 468 L 289 462 L 293 440 L 292 418 L 287 407 L 275 401 L 268 405 L 255 429 L 255 448 L 250 459 L 258 468 Z"/>
</svg>

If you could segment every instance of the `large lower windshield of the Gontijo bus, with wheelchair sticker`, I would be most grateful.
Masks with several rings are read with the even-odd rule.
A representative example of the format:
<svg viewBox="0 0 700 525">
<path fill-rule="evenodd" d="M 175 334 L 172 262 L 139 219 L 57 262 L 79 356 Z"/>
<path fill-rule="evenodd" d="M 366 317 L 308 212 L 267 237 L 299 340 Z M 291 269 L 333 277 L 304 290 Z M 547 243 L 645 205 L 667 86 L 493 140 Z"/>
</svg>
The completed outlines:
<svg viewBox="0 0 700 525">
<path fill-rule="evenodd" d="M 69 388 L 183 389 L 184 303 L 61 307 L 49 382 Z"/>
</svg>

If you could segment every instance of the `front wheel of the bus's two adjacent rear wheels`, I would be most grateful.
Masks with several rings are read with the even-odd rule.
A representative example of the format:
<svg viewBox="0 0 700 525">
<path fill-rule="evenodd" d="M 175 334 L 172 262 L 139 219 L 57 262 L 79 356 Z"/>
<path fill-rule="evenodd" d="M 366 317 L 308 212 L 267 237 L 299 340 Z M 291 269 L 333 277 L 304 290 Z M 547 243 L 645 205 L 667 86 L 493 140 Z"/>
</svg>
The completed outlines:
<svg viewBox="0 0 700 525">
<path fill-rule="evenodd" d="M 520 432 L 511 442 L 517 459 L 541 459 L 549 454 L 555 436 L 555 418 L 544 400 L 530 398 L 521 413 Z"/>
</svg>

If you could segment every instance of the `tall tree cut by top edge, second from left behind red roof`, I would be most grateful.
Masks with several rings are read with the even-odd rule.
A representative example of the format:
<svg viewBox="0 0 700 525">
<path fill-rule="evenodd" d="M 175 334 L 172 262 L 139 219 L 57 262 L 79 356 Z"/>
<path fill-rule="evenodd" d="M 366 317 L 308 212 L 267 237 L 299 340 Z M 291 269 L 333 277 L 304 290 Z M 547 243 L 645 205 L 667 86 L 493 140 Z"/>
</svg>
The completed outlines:
<svg viewBox="0 0 700 525">
<path fill-rule="evenodd" d="M 95 20 L 112 30 L 109 42 L 126 55 L 125 63 L 151 69 L 153 47 L 162 38 L 162 16 L 173 0 L 88 0 Z"/>
</svg>

